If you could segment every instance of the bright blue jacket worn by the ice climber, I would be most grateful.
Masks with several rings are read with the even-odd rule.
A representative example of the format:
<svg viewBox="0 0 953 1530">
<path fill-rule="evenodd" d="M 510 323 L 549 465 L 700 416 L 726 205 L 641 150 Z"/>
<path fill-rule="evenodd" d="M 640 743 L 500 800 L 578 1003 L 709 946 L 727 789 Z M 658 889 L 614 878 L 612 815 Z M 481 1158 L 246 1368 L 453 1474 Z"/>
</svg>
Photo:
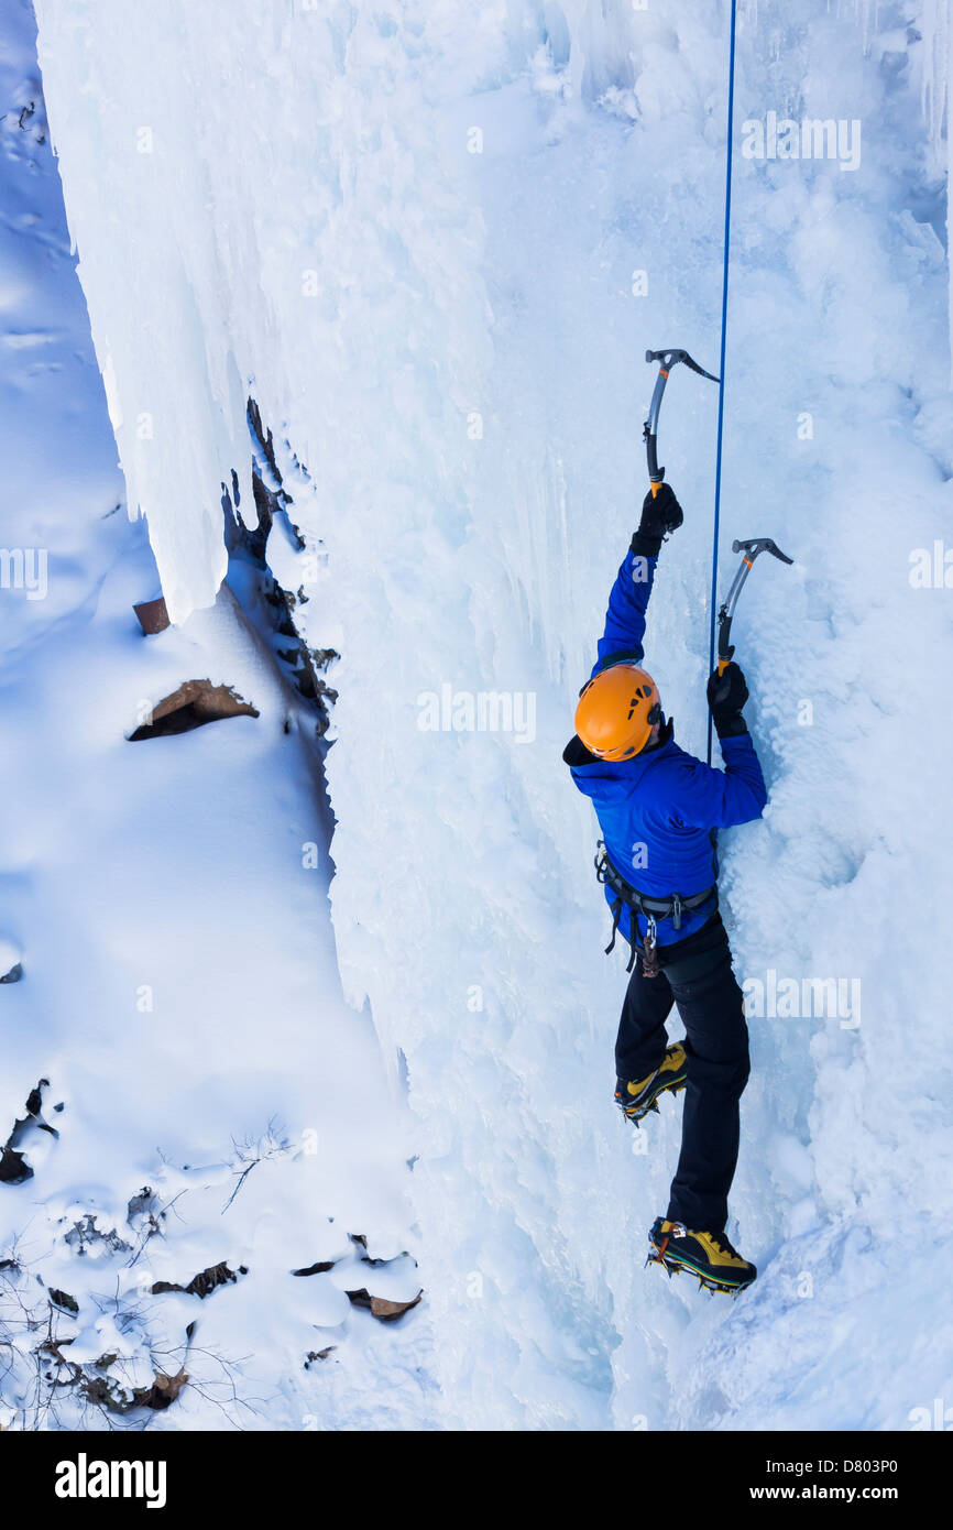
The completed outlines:
<svg viewBox="0 0 953 1530">
<path fill-rule="evenodd" d="M 606 615 L 592 673 L 620 658 L 642 662 L 646 609 L 658 558 L 626 555 Z M 748 733 L 722 739 L 724 771 L 713 770 L 678 747 L 665 722 L 655 748 L 630 760 L 601 760 L 580 737 L 568 744 L 563 759 L 572 779 L 592 799 L 609 860 L 626 881 L 650 898 L 678 892 L 688 898 L 717 878 L 716 829 L 760 819 L 768 793 Z M 606 886 L 612 906 L 615 892 Z M 701 909 L 682 913 L 681 929 L 672 920 L 658 921 L 656 941 L 670 946 L 685 939 L 711 916 L 714 895 Z M 620 930 L 630 939 L 629 907 L 623 904 Z M 639 942 L 646 918 L 638 918 Z"/>
</svg>

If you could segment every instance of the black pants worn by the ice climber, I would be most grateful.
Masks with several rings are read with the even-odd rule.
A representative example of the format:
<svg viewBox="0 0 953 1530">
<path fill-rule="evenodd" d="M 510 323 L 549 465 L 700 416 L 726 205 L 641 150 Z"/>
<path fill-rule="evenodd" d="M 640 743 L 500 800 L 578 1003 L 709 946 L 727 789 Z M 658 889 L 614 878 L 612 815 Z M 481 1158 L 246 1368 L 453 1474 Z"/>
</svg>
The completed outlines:
<svg viewBox="0 0 953 1530">
<path fill-rule="evenodd" d="M 696 1232 L 720 1233 L 737 1164 L 737 1102 L 750 1069 L 743 994 L 717 913 L 694 935 L 659 946 L 658 952 L 658 978 L 644 976 L 641 955 L 632 970 L 615 1071 L 620 1079 L 636 1080 L 658 1068 L 668 1045 L 665 1021 L 678 1005 L 687 1031 L 688 1077 L 682 1151 L 665 1215 Z"/>
</svg>

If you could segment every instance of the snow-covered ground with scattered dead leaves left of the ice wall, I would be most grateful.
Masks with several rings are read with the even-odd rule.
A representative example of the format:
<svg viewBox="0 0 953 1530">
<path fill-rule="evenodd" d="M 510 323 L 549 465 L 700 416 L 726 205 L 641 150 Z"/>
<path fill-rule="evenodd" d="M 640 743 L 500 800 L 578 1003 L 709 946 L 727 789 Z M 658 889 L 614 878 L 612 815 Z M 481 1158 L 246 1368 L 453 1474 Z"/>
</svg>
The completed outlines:
<svg viewBox="0 0 953 1530">
<path fill-rule="evenodd" d="M 43 551 L 23 568 L 46 580 L 0 592 L 0 923 L 24 973 L 0 987 L 0 1132 L 43 1079 L 58 1137 L 28 1121 L 34 1177 L 0 1184 L 0 1421 L 122 1424 L 64 1386 L 84 1365 L 119 1405 L 185 1369 L 159 1415 L 177 1427 L 381 1427 L 405 1408 L 425 1424 L 424 1308 L 384 1325 L 346 1294 L 421 1282 L 399 1106 L 337 973 L 315 716 L 228 588 L 139 630 L 154 562 L 125 513 L 34 47 L 20 6 L 0 76 L 5 546 Z M 127 742 L 196 678 L 260 716 Z M 237 1281 L 203 1299 L 151 1293 L 220 1264 Z"/>
</svg>

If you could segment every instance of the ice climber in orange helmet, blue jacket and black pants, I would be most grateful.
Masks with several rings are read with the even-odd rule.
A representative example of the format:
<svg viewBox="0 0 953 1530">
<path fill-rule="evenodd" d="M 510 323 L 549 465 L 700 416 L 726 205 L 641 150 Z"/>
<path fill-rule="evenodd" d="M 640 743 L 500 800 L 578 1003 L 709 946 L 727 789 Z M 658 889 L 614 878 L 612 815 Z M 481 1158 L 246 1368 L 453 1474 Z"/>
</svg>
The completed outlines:
<svg viewBox="0 0 953 1530">
<path fill-rule="evenodd" d="M 638 1125 L 662 1092 L 685 1091 L 681 1155 L 668 1209 L 649 1233 L 649 1258 L 734 1294 L 757 1274 L 725 1236 L 750 1060 L 743 998 L 717 909 L 716 831 L 759 819 L 766 791 L 742 716 L 748 687 L 737 664 L 708 679 L 724 771 L 679 748 L 642 669 L 658 555 L 682 519 L 667 483 L 655 499 L 646 496 L 563 759 L 592 799 L 603 834 L 597 871 L 612 912 L 607 950 L 616 930 L 632 947 L 615 1043 L 616 1103 Z M 673 1004 L 685 1039 L 668 1045 Z"/>
</svg>

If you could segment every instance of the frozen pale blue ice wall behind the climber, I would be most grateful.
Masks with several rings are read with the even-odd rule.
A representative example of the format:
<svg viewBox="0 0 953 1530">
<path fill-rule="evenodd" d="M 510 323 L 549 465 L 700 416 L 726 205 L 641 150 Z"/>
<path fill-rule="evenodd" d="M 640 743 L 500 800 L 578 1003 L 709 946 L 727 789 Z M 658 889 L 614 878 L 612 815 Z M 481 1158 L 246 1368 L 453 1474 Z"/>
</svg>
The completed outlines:
<svg viewBox="0 0 953 1530">
<path fill-rule="evenodd" d="M 945 724 L 922 655 L 948 633 L 909 557 L 941 536 L 953 470 L 921 44 L 849 6 L 740 8 L 739 129 L 860 118 L 864 155 L 736 164 L 722 578 L 731 536 L 769 532 L 799 566 L 759 569 L 739 623 L 772 805 L 725 838 L 725 912 L 740 978 L 864 998 L 753 1016 L 733 1229 L 765 1270 L 708 1308 L 641 1270 L 678 1117 L 635 1154 L 612 1111 L 623 976 L 560 750 L 642 493 L 641 355 L 717 356 L 728 6 L 242 0 L 135 29 L 118 3 L 37 9 L 173 610 L 214 595 L 233 468 L 248 503 L 251 390 L 307 545 L 283 580 L 300 568 L 309 638 L 343 655 L 338 958 L 419 1118 L 447 1421 L 903 1427 L 944 1380 L 916 1311 L 948 1242 L 921 1174 L 948 1154 L 948 1080 L 912 1066 L 945 1024 L 922 898 L 948 883 Z M 665 405 L 688 514 L 649 643 L 693 748 L 707 389 L 678 378 Z M 490 692 L 509 725 L 470 730 Z M 910 1238 L 933 1250 L 913 1265 Z"/>
</svg>

